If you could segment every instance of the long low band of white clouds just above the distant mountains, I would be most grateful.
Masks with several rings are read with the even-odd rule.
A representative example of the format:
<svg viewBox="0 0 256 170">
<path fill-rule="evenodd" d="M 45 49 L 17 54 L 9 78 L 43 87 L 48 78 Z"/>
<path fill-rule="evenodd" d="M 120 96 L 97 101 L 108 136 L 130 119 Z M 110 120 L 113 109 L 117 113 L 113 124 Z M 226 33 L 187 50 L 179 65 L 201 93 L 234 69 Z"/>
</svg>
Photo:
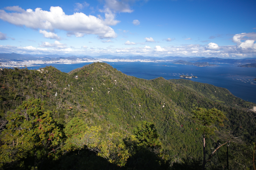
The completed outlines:
<svg viewBox="0 0 256 170">
<path fill-rule="evenodd" d="M 219 46 L 220 50 L 206 49 L 207 45 L 200 44 L 189 44 L 182 46 L 166 46 L 161 48 L 160 46 L 155 46 L 153 49 L 149 49 L 148 46 L 144 47 L 128 47 L 128 48 L 113 48 L 113 46 L 107 47 L 106 49 L 94 49 L 90 47 L 87 49 L 86 54 L 90 56 L 95 56 L 99 54 L 112 54 L 112 55 L 142 55 L 142 56 L 184 56 L 184 57 L 219 57 L 219 58 L 247 58 L 254 57 L 255 53 L 242 53 L 238 50 L 235 45 Z M 111 48 L 112 47 L 112 48 Z M 163 50 L 164 49 L 164 50 Z M 0 51 L 2 53 L 19 53 L 19 54 L 72 54 L 81 55 L 84 54 L 84 49 L 58 49 L 58 48 L 35 48 L 33 46 L 27 47 L 16 47 L 10 45 L 0 45 Z"/>
</svg>

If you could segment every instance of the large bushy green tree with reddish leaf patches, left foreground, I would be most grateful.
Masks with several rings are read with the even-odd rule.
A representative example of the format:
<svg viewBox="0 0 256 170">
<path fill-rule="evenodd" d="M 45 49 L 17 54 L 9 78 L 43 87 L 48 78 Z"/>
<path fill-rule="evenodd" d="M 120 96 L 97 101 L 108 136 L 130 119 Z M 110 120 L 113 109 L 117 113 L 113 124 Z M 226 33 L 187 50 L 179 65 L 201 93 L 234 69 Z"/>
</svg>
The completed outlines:
<svg viewBox="0 0 256 170">
<path fill-rule="evenodd" d="M 32 144 L 31 151 L 38 160 L 46 156 L 55 158 L 63 146 L 63 133 L 52 119 L 52 111 L 43 111 L 43 106 L 44 102 L 39 99 L 23 101 L 14 112 L 8 113 L 8 124 L 2 132 L 3 139 L 9 140 L 13 136 L 17 138 L 16 142 L 13 140 L 13 146 L 15 143 Z"/>
</svg>

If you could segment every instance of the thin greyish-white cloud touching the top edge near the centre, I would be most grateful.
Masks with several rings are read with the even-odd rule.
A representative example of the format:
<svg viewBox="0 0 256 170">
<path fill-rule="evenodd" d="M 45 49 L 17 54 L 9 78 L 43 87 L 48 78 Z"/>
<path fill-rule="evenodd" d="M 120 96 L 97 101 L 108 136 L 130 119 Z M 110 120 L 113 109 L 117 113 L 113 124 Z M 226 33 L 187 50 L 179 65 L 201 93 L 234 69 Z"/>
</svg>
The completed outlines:
<svg viewBox="0 0 256 170">
<path fill-rule="evenodd" d="M 127 1 L 116 1 L 116 0 L 105 0 L 106 8 L 112 9 L 114 12 L 128 12 L 131 13 L 133 10 L 130 9 L 130 5 L 127 4 Z"/>
</svg>

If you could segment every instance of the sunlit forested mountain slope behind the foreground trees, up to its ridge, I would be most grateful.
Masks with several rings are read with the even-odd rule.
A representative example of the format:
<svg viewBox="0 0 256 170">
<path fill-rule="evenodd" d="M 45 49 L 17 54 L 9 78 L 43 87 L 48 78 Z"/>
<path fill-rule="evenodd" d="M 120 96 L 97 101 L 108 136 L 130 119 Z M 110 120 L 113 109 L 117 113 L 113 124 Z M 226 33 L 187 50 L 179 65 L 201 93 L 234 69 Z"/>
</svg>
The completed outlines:
<svg viewBox="0 0 256 170">
<path fill-rule="evenodd" d="M 63 125 L 78 116 L 89 125 L 101 125 L 105 132 L 127 133 L 141 121 L 150 121 L 155 123 L 168 153 L 186 157 L 201 155 L 202 148 L 191 111 L 215 107 L 228 113 L 225 128 L 244 136 L 247 142 L 255 140 L 256 129 L 246 112 L 250 103 L 227 89 L 182 79 L 138 79 L 106 63 L 93 63 L 70 73 L 54 67 L 42 69 L 42 73 L 27 69 L 1 71 L 2 116 L 35 97 L 46 101 L 45 109 L 52 110 L 54 119 Z"/>
</svg>

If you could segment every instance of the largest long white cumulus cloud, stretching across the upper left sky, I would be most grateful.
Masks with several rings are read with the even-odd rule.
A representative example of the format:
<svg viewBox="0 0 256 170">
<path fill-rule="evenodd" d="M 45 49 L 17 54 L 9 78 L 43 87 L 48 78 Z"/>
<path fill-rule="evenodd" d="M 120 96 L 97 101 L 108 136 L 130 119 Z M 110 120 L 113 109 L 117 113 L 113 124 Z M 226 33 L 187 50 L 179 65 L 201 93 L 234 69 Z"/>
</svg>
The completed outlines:
<svg viewBox="0 0 256 170">
<path fill-rule="evenodd" d="M 83 13 L 74 13 L 66 15 L 61 7 L 51 7 L 50 11 L 44 11 L 41 8 L 36 8 L 35 11 L 27 9 L 26 11 L 18 6 L 6 7 L 6 9 L 15 12 L 6 12 L 0 10 L 0 19 L 11 24 L 23 26 L 31 29 L 64 30 L 71 33 L 95 34 L 99 38 L 115 38 L 117 35 L 109 25 L 115 25 L 119 21 L 114 19 L 114 15 L 105 11 L 105 19 L 97 18 L 92 15 Z M 72 35 L 72 34 L 68 34 Z"/>
</svg>

